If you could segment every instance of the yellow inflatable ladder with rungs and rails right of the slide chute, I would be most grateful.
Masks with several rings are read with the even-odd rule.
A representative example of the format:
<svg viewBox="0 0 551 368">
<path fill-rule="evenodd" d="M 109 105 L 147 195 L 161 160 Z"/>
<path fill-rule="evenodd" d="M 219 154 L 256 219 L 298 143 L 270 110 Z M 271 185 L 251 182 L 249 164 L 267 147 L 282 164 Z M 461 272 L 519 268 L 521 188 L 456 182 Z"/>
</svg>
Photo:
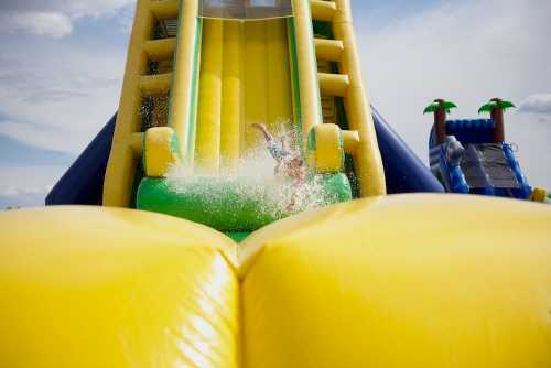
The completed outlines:
<svg viewBox="0 0 551 368">
<path fill-rule="evenodd" d="M 310 8 L 306 6 L 309 2 Z M 321 99 L 342 97 L 352 129 L 343 132 L 344 148 L 354 158 L 360 195 L 385 195 L 385 172 L 371 108 L 363 83 L 349 0 L 309 2 L 293 1 L 305 144 L 310 130 L 323 123 Z M 312 21 L 331 22 L 335 40 L 313 40 Z M 337 63 L 339 73 L 316 75 L 317 59 Z"/>
</svg>

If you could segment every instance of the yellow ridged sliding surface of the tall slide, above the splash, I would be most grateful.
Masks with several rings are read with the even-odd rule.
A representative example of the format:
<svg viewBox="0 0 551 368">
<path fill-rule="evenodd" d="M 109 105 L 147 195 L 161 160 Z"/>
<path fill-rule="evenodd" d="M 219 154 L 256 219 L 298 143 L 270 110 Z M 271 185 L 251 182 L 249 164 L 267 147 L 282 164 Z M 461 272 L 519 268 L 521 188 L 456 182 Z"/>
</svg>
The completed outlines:
<svg viewBox="0 0 551 368">
<path fill-rule="evenodd" d="M 287 20 L 203 20 L 195 166 L 235 170 L 262 140 L 253 122 L 290 129 Z"/>
</svg>

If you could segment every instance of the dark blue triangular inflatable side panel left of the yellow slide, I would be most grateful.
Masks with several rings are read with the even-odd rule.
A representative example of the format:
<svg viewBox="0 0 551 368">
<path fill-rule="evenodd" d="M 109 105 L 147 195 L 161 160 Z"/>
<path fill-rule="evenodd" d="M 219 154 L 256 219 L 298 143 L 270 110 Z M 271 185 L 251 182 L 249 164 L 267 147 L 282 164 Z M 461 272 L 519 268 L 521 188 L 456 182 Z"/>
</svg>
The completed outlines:
<svg viewBox="0 0 551 368">
<path fill-rule="evenodd" d="M 115 115 L 46 197 L 46 206 L 101 205 L 107 161 L 115 132 Z"/>
</svg>

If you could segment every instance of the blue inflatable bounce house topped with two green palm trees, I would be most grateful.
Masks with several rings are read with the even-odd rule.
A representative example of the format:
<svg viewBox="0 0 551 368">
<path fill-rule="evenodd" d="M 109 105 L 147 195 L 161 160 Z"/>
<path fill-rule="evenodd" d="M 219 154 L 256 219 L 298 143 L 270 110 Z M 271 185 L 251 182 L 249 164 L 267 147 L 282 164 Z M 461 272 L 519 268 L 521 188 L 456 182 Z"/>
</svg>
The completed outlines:
<svg viewBox="0 0 551 368">
<path fill-rule="evenodd" d="M 504 112 L 515 105 L 494 98 L 478 110 L 489 112 L 490 119 L 446 120 L 446 113 L 456 107 L 436 99 L 424 110 L 434 112 L 429 159 L 445 190 L 547 202 L 545 191 L 532 190 L 511 144 L 505 142 Z"/>
</svg>

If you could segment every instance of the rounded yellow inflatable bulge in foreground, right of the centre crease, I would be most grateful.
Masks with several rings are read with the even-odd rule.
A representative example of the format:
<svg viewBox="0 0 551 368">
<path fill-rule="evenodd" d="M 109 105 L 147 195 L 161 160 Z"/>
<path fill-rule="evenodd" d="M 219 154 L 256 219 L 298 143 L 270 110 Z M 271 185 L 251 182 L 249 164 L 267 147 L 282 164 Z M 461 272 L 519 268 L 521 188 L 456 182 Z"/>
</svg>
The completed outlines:
<svg viewBox="0 0 551 368">
<path fill-rule="evenodd" d="M 245 367 L 551 367 L 544 205 L 389 196 L 241 247 Z"/>
</svg>

